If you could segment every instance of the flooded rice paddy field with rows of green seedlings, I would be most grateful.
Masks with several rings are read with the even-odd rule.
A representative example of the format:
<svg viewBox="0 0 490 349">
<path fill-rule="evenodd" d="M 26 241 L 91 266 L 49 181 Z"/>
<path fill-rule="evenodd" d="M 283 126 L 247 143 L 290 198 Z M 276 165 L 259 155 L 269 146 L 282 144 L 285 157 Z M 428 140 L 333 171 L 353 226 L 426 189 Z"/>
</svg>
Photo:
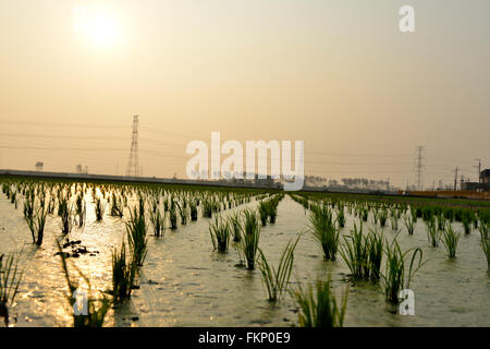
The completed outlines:
<svg viewBox="0 0 490 349">
<path fill-rule="evenodd" d="M 1 326 L 490 326 L 489 202 L 0 185 Z"/>
</svg>

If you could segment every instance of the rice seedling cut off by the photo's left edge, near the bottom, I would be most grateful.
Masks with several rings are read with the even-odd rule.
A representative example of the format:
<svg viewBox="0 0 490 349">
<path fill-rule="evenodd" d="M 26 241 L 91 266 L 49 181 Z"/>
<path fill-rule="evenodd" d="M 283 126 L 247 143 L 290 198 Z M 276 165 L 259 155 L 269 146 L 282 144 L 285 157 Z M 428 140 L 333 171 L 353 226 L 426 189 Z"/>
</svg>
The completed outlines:
<svg viewBox="0 0 490 349">
<path fill-rule="evenodd" d="M 0 317 L 9 326 L 9 304 L 13 303 L 21 285 L 23 270 L 19 268 L 20 255 L 0 255 Z"/>
</svg>

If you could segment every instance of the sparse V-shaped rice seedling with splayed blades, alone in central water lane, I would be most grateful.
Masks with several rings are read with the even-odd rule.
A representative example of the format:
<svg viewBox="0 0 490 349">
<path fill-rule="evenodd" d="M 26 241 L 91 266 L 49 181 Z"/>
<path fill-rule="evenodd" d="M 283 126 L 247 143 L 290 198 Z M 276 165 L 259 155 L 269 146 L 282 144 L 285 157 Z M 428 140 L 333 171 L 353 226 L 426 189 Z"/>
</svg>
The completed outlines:
<svg viewBox="0 0 490 349">
<path fill-rule="evenodd" d="M 294 250 L 296 249 L 299 238 L 301 236 L 297 237 L 296 241 L 293 242 L 291 240 L 287 242 L 287 245 L 281 254 L 277 269 L 269 265 L 262 250 L 259 249 L 260 258 L 258 261 L 258 267 L 262 275 L 262 285 L 267 290 L 268 300 L 270 302 L 275 302 L 282 298 L 287 289 L 287 282 L 290 281 L 291 272 L 293 270 Z"/>
</svg>

